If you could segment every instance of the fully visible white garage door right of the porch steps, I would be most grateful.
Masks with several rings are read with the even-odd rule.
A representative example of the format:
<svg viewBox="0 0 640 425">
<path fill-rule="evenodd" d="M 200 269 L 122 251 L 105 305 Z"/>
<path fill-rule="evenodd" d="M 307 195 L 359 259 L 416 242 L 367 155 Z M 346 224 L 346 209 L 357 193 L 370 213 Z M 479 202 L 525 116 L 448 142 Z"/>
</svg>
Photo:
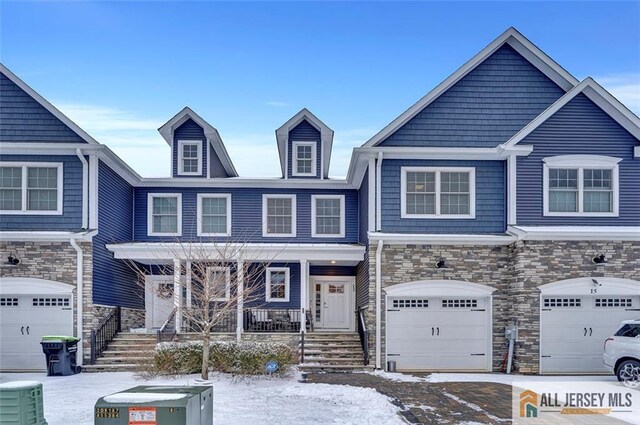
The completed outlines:
<svg viewBox="0 0 640 425">
<path fill-rule="evenodd" d="M 490 370 L 488 297 L 389 297 L 387 360 L 398 370 Z"/>
</svg>

